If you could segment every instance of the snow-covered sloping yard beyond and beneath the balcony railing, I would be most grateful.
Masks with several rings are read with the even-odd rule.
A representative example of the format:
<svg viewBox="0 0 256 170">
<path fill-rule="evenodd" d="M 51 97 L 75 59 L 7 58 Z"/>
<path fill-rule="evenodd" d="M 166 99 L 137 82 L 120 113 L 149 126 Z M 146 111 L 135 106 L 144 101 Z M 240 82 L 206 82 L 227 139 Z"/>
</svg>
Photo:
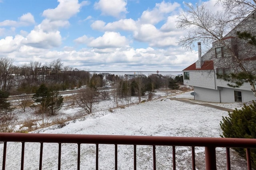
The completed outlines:
<svg viewBox="0 0 256 170">
<path fill-rule="evenodd" d="M 95 104 L 94 113 L 84 115 L 76 120 L 66 122 L 64 127 L 53 125 L 37 129 L 31 133 L 66 133 L 66 134 L 94 134 L 94 135 L 142 135 L 142 136 L 176 136 L 176 137 L 220 137 L 220 121 L 222 116 L 227 116 L 227 111 L 186 104 L 170 97 L 193 99 L 190 92 L 175 96 L 164 96 L 164 92 L 157 92 L 152 101 L 138 102 L 134 98 L 134 104 L 125 107 L 116 106 L 112 100 Z M 144 100 L 144 99 L 143 99 Z M 146 100 L 146 98 L 145 98 Z M 124 102 L 122 103 L 124 104 Z M 215 104 L 227 108 L 240 108 L 242 104 Z M 28 109 L 23 113 L 16 111 L 18 122 L 30 119 L 33 110 Z M 82 109 L 74 104 L 65 104 L 58 117 L 81 114 Z M 55 117 L 56 118 L 56 117 Z M 48 121 L 53 118 L 48 117 Z M 38 121 L 39 122 L 39 121 Z M 39 123 L 40 124 L 40 123 Z M 22 124 L 17 127 L 22 127 Z M 0 156 L 2 156 L 3 144 L 0 144 Z M 81 145 L 82 170 L 95 169 L 96 146 Z M 196 168 L 205 169 L 204 148 L 196 147 Z M 25 143 L 25 170 L 36 170 L 39 165 L 40 143 Z M 21 143 L 7 143 L 6 170 L 20 169 Z M 217 169 L 226 169 L 226 150 L 216 148 Z M 152 146 L 137 147 L 137 169 L 153 169 Z M 231 151 L 231 169 L 246 169 L 246 161 Z M 62 144 L 63 170 L 76 169 L 77 144 Z M 172 169 L 172 147 L 156 147 L 156 164 L 158 170 Z M 43 169 L 58 169 L 58 144 L 44 144 Z M 191 150 L 189 147 L 176 147 L 176 166 L 180 170 L 190 170 Z M 2 167 L 2 157 L 0 157 Z M 99 169 L 114 169 L 114 145 L 99 145 Z M 118 145 L 118 169 L 133 169 L 133 146 Z"/>
</svg>

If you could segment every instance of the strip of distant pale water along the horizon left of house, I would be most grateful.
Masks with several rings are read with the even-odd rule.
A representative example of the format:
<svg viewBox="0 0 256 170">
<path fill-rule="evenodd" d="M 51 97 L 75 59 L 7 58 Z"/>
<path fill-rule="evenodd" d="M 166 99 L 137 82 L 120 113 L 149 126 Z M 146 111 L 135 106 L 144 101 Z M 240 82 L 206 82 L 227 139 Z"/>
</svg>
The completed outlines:
<svg viewBox="0 0 256 170">
<path fill-rule="evenodd" d="M 109 73 L 115 74 L 118 76 L 123 76 L 124 74 L 144 74 L 146 76 L 150 76 L 151 74 L 156 74 L 156 71 L 90 71 L 91 74 L 100 74 L 100 73 Z M 177 76 L 178 74 L 182 74 L 182 72 L 174 72 L 174 71 L 159 71 L 158 74 L 162 74 L 163 76 Z"/>
</svg>

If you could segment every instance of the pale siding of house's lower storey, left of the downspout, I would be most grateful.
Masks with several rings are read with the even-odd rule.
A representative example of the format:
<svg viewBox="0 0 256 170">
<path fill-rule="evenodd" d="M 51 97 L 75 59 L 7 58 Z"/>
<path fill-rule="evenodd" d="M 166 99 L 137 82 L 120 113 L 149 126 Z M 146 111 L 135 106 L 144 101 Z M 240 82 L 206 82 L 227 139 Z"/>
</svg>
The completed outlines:
<svg viewBox="0 0 256 170">
<path fill-rule="evenodd" d="M 194 87 L 194 92 L 196 92 L 195 100 L 216 103 L 220 102 L 219 90 Z"/>
</svg>

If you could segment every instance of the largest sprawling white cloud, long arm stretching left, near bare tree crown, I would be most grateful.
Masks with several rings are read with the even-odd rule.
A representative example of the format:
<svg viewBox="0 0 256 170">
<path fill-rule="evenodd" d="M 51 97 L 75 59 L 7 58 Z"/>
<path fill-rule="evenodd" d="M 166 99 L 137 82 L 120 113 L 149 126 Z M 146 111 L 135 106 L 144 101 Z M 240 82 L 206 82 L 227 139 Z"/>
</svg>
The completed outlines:
<svg viewBox="0 0 256 170">
<path fill-rule="evenodd" d="M 131 18 L 110 23 L 97 20 L 91 24 L 91 28 L 98 31 L 133 31 L 134 39 L 149 43 L 151 47 L 176 46 L 178 37 L 183 33 L 175 28 L 176 15 L 170 15 L 170 13 L 179 6 L 180 4 L 176 2 L 172 4 L 163 1 L 156 4 L 153 10 L 144 11 L 137 21 Z M 160 29 L 154 26 L 154 24 L 166 18 L 166 23 Z"/>
</svg>

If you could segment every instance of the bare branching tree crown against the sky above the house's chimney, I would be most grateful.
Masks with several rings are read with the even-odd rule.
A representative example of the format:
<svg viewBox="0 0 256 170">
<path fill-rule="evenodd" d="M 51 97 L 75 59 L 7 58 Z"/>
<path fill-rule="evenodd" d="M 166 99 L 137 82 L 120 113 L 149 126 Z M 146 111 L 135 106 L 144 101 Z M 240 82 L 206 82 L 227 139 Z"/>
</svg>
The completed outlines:
<svg viewBox="0 0 256 170">
<path fill-rule="evenodd" d="M 187 29 L 188 33 L 179 40 L 179 45 L 192 49 L 194 43 L 202 42 L 210 49 L 212 42 L 223 41 L 223 36 L 228 33 L 229 21 L 223 12 L 211 12 L 206 4 L 196 4 L 196 7 L 185 5 L 186 9 L 179 14 L 176 26 Z"/>
</svg>

